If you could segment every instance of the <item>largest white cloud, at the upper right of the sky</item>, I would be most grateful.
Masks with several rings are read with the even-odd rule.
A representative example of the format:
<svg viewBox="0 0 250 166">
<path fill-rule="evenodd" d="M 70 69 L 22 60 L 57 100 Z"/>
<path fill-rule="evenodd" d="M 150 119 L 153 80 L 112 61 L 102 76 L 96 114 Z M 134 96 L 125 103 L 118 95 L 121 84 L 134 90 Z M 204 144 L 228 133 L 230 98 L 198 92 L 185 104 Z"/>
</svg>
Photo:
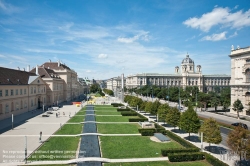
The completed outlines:
<svg viewBox="0 0 250 166">
<path fill-rule="evenodd" d="M 189 18 L 183 24 L 204 32 L 208 32 L 212 27 L 217 25 L 239 29 L 250 26 L 250 9 L 246 12 L 240 10 L 233 13 L 229 8 L 214 8 L 213 11 L 203 14 L 200 18 Z"/>
</svg>

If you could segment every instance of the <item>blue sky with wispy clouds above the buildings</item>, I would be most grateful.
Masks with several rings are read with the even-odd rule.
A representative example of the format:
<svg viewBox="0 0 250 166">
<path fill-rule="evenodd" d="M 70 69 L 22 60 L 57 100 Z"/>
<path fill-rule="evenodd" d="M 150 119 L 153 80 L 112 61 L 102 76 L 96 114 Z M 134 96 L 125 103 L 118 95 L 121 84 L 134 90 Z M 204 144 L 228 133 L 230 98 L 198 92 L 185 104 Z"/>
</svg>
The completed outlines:
<svg viewBox="0 0 250 166">
<path fill-rule="evenodd" d="M 174 73 L 188 52 L 203 74 L 230 74 L 250 46 L 250 3 L 187 0 L 0 0 L 0 66 L 60 60 L 79 77 Z"/>
</svg>

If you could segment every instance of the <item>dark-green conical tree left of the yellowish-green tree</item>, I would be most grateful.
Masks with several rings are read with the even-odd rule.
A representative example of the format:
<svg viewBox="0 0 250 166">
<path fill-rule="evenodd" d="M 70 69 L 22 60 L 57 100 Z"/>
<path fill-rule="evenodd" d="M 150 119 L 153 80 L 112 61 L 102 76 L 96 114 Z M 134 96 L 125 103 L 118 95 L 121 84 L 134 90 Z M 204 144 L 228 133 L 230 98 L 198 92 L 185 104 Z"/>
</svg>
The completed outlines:
<svg viewBox="0 0 250 166">
<path fill-rule="evenodd" d="M 197 113 L 194 111 L 191 105 L 188 106 L 187 111 L 185 111 L 180 118 L 179 127 L 189 133 L 197 133 L 200 129 L 200 120 Z"/>
</svg>

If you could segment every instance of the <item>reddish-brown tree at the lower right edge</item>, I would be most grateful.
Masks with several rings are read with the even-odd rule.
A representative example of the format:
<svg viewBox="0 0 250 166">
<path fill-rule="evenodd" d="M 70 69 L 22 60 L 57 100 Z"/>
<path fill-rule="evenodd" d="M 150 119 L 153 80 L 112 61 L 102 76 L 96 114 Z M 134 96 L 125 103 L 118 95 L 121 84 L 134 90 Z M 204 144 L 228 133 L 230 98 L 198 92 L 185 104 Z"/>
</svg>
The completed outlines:
<svg viewBox="0 0 250 166">
<path fill-rule="evenodd" d="M 227 144 L 230 149 L 239 154 L 240 160 L 242 152 L 250 151 L 249 136 L 247 130 L 241 126 L 235 127 L 233 131 L 228 134 Z"/>
</svg>

